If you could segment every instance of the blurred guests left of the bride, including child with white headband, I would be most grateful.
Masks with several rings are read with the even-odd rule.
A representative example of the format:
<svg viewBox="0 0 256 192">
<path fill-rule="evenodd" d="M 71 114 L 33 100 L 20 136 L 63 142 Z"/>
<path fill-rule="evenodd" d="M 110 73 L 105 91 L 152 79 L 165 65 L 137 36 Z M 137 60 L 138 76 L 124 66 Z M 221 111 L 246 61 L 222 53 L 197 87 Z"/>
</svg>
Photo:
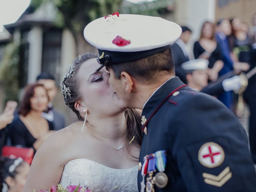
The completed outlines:
<svg viewBox="0 0 256 192">
<path fill-rule="evenodd" d="M 29 170 L 24 160 L 31 159 L 52 133 L 66 126 L 64 116 L 53 108 L 56 93 L 53 76 L 42 73 L 34 84 L 26 86 L 17 109 L 17 102 L 7 102 L 0 115 L 0 189 L 21 192 Z M 6 144 L 14 148 L 4 150 Z M 32 154 L 26 149 L 33 149 Z M 16 155 L 2 157 L 12 152 L 20 154 L 24 160 Z"/>
</svg>

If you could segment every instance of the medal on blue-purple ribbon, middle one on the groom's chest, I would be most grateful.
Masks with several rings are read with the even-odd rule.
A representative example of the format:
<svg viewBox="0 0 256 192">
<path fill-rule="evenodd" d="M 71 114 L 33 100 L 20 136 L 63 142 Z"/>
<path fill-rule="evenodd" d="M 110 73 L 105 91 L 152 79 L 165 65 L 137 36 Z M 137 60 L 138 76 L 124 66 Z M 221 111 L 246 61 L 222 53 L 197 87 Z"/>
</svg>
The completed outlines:
<svg viewBox="0 0 256 192">
<path fill-rule="evenodd" d="M 146 192 L 154 192 L 153 173 L 156 171 L 156 158 L 154 154 L 148 156 L 148 178 Z"/>
</svg>

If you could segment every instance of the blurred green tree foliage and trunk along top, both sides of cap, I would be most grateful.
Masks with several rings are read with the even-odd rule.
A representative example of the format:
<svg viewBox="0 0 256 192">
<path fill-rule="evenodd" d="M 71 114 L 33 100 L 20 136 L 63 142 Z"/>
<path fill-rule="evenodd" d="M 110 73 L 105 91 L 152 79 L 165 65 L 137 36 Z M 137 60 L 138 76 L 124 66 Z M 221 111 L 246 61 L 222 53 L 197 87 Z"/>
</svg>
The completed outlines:
<svg viewBox="0 0 256 192">
<path fill-rule="evenodd" d="M 80 54 L 86 50 L 83 30 L 90 21 L 116 11 L 159 16 L 159 11 L 166 10 L 166 6 L 173 0 L 157 0 L 142 4 L 132 4 L 124 0 L 32 0 L 31 6 L 38 8 L 46 2 L 53 3 L 58 9 L 56 26 L 68 28 L 72 32 L 76 41 L 76 52 Z M 128 6 L 129 4 L 132 6 Z M 100 26 L 97 30 L 101 30 Z"/>
</svg>

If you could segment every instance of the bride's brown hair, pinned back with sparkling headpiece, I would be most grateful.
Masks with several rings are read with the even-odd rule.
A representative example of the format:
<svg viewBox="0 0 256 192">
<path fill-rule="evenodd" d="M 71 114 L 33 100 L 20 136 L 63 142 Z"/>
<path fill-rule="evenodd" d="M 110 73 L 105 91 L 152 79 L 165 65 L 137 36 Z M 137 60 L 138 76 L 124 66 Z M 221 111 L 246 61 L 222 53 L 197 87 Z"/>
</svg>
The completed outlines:
<svg viewBox="0 0 256 192">
<path fill-rule="evenodd" d="M 75 103 L 80 100 L 81 95 L 78 88 L 78 80 L 76 74 L 80 66 L 89 59 L 98 58 L 98 55 L 91 52 L 86 52 L 81 56 L 78 56 L 70 65 L 68 72 L 64 75 L 62 81 L 62 94 L 64 95 L 65 104 L 76 114 L 79 120 L 84 120 L 79 111 L 75 108 Z M 129 149 L 129 142 L 134 136 L 133 143 L 140 147 L 142 143 L 142 129 L 140 124 L 141 116 L 134 109 L 127 109 L 125 111 L 126 116 L 126 146 Z"/>
</svg>

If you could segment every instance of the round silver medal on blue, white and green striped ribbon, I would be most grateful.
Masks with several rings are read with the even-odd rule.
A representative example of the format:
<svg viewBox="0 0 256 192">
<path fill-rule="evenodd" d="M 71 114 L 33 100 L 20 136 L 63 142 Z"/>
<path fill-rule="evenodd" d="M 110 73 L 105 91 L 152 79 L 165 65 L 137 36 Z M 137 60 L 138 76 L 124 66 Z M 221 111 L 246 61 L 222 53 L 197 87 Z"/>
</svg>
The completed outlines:
<svg viewBox="0 0 256 192">
<path fill-rule="evenodd" d="M 158 188 L 164 188 L 168 183 L 168 177 L 164 173 L 166 166 L 166 151 L 161 150 L 154 153 L 156 157 L 156 168 L 158 169 L 158 173 L 154 176 L 153 181 L 154 184 Z"/>
</svg>

